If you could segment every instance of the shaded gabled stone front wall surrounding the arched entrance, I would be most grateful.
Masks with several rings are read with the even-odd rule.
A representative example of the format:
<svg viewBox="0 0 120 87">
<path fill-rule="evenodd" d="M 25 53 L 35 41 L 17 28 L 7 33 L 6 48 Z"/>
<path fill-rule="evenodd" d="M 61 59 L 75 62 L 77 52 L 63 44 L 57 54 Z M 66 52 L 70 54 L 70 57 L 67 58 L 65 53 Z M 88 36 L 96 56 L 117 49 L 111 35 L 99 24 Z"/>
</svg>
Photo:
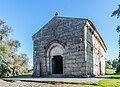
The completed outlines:
<svg viewBox="0 0 120 87">
<path fill-rule="evenodd" d="M 35 75 L 51 75 L 51 62 L 47 56 L 49 47 L 58 43 L 63 53 L 63 75 L 80 76 L 86 73 L 84 26 L 85 20 L 56 18 L 34 36 Z M 37 69 L 38 68 L 38 69 Z M 39 70 L 40 69 L 40 70 Z"/>
</svg>

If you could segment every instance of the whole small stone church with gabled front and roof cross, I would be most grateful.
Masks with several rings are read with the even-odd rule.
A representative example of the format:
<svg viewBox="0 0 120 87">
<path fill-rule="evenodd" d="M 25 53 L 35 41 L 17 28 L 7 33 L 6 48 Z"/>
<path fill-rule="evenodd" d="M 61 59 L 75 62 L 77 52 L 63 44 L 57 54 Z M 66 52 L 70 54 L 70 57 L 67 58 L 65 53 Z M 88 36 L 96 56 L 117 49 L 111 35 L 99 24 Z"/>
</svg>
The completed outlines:
<svg viewBox="0 0 120 87">
<path fill-rule="evenodd" d="M 107 47 L 91 20 L 55 16 L 32 37 L 34 76 L 105 74 Z"/>
</svg>

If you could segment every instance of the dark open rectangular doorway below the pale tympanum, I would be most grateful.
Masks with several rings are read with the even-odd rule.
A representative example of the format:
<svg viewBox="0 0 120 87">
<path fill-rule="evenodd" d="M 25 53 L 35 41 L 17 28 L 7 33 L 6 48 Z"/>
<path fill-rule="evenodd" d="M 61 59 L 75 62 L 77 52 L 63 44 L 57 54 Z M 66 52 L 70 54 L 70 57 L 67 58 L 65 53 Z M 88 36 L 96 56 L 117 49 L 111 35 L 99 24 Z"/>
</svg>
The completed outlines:
<svg viewBox="0 0 120 87">
<path fill-rule="evenodd" d="M 52 58 L 52 74 L 63 74 L 63 58 L 61 55 Z"/>
</svg>

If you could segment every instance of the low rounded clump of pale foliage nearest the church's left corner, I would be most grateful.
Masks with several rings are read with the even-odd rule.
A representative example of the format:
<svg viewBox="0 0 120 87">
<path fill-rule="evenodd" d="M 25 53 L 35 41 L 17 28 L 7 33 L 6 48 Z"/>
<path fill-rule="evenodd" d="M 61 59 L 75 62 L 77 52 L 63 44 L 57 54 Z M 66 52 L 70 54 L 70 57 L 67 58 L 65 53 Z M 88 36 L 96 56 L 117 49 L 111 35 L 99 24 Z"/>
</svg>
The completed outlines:
<svg viewBox="0 0 120 87">
<path fill-rule="evenodd" d="M 12 76 L 23 74 L 28 70 L 28 57 L 26 54 L 14 54 L 12 58 L 8 59 L 7 63 L 10 66 Z"/>
</svg>

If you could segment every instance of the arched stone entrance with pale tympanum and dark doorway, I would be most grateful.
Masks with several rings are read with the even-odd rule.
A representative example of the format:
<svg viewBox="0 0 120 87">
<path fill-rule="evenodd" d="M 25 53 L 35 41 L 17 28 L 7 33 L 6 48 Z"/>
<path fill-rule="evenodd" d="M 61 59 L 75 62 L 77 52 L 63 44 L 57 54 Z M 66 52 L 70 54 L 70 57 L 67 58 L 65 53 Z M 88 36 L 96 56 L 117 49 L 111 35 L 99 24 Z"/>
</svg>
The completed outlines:
<svg viewBox="0 0 120 87">
<path fill-rule="evenodd" d="M 58 43 L 53 43 L 47 50 L 50 74 L 63 74 L 63 53 L 64 47 Z"/>
</svg>

